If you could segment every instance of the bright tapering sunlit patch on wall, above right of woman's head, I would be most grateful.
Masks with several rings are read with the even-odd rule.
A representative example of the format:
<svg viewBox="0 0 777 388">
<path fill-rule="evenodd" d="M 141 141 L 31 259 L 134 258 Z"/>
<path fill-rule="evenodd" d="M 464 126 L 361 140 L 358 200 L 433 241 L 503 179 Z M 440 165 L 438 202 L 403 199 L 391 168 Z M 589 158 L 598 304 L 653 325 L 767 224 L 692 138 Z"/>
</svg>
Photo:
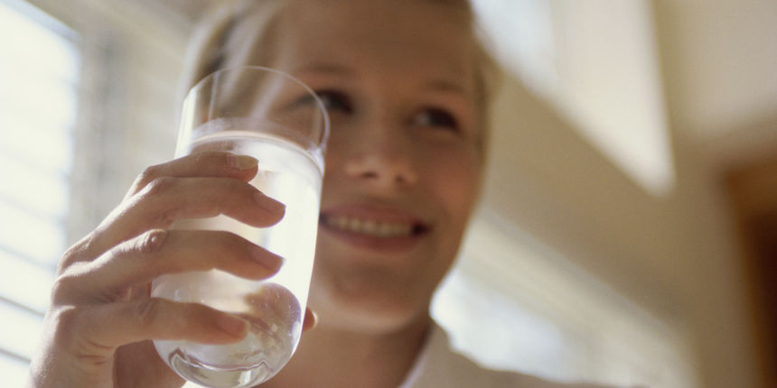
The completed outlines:
<svg viewBox="0 0 777 388">
<path fill-rule="evenodd" d="M 655 196 L 675 172 L 647 0 L 475 0 L 505 69 Z"/>
</svg>

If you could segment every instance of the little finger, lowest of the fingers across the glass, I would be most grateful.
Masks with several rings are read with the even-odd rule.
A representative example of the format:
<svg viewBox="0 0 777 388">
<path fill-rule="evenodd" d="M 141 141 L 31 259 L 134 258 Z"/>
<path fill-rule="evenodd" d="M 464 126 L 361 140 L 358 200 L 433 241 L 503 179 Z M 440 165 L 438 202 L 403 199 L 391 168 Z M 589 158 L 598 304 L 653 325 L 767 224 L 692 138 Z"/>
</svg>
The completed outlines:
<svg viewBox="0 0 777 388">
<path fill-rule="evenodd" d="M 51 315 L 57 343 L 89 355 L 110 355 L 118 346 L 150 338 L 226 344 L 248 332 L 248 323 L 233 315 L 159 298 L 68 306 Z"/>
</svg>

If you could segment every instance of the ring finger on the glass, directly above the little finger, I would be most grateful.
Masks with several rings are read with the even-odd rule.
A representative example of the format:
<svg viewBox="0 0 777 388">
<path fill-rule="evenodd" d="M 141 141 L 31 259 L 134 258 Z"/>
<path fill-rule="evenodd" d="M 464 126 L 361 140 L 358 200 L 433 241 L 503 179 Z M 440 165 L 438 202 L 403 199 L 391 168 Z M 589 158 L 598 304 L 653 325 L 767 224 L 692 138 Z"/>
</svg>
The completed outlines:
<svg viewBox="0 0 777 388">
<path fill-rule="evenodd" d="M 212 269 L 259 280 L 282 263 L 280 256 L 229 232 L 155 229 L 70 267 L 58 277 L 52 297 L 58 304 L 120 300 L 160 275 Z"/>
</svg>

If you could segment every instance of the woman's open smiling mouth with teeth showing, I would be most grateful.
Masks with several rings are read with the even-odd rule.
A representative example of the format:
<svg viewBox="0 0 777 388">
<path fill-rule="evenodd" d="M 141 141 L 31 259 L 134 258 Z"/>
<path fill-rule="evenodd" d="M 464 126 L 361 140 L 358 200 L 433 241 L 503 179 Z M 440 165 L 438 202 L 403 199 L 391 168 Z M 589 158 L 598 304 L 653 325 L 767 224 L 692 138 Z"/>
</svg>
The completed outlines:
<svg viewBox="0 0 777 388">
<path fill-rule="evenodd" d="M 379 238 L 418 236 L 426 233 L 428 230 L 428 227 L 419 223 L 349 216 L 322 215 L 321 222 L 325 226 L 344 233 Z"/>
</svg>

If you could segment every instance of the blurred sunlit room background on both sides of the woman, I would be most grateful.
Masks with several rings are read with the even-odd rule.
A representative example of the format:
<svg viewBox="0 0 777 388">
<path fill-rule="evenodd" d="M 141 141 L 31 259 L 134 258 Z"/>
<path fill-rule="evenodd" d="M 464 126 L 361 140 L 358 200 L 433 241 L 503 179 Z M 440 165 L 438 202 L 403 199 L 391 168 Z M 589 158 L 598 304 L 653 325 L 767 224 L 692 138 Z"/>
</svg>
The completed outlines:
<svg viewBox="0 0 777 388">
<path fill-rule="evenodd" d="M 173 155 L 204 0 L 0 0 L 0 374 L 61 253 Z M 777 386 L 777 2 L 476 0 L 503 75 L 482 207 L 435 297 L 484 365 Z"/>
</svg>

